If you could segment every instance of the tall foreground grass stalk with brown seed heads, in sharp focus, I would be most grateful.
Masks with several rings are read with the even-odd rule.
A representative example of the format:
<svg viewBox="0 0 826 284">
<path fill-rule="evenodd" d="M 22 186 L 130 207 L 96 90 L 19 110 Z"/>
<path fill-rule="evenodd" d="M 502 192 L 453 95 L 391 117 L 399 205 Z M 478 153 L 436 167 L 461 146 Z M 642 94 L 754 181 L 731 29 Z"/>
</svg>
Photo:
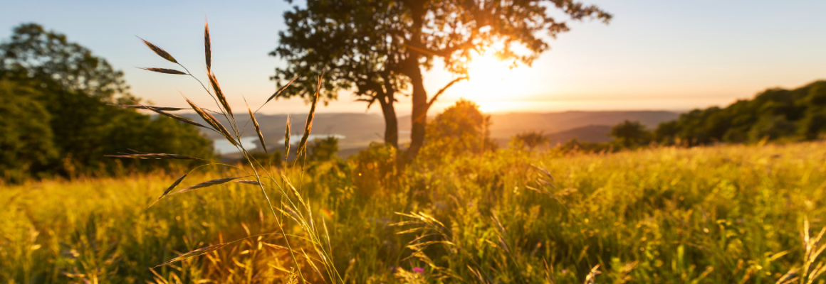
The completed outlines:
<svg viewBox="0 0 826 284">
<path fill-rule="evenodd" d="M 263 147 L 265 153 L 267 153 L 266 143 L 263 140 L 263 133 L 261 133 L 261 129 L 259 127 L 258 121 L 255 119 L 255 113 L 252 109 L 247 107 L 249 113 L 249 121 L 241 125 L 240 123 L 235 121 L 235 115 L 233 114 L 232 108 L 227 100 L 227 97 L 224 91 L 221 90 L 221 86 L 218 83 L 218 79 L 216 77 L 215 72 L 212 72 L 211 69 L 211 40 L 210 40 L 210 32 L 209 26 L 205 22 L 204 24 L 204 55 L 206 58 L 206 65 L 207 65 L 207 81 L 208 85 L 204 85 L 202 81 L 198 80 L 191 72 L 189 72 L 188 68 L 184 67 L 182 63 L 178 63 L 171 54 L 169 54 L 164 49 L 161 49 L 159 46 L 150 43 L 149 41 L 140 39 L 143 43 L 149 47 L 155 54 L 159 55 L 159 57 L 166 59 L 170 63 L 178 64 L 180 68 L 183 68 L 185 72 L 178 71 L 169 68 L 143 68 L 147 71 L 151 72 L 159 72 L 164 74 L 172 74 L 172 75 L 188 75 L 201 83 L 203 86 L 204 91 L 207 92 L 208 95 L 211 96 L 213 101 L 215 102 L 215 107 L 217 111 L 213 111 L 210 109 L 204 109 L 199 107 L 195 102 L 189 100 L 185 95 L 182 94 L 183 99 L 186 100 L 188 105 L 192 107 L 192 110 L 195 111 L 198 116 L 206 122 L 207 125 L 202 123 L 197 123 L 189 119 L 183 119 L 177 115 L 169 114 L 167 111 L 170 110 L 177 110 L 175 108 L 164 108 L 164 107 L 154 107 L 154 106 L 142 106 L 142 105 L 135 105 L 131 107 L 140 107 L 144 109 L 150 109 L 156 113 L 163 114 L 174 119 L 178 119 L 184 123 L 191 123 L 201 128 L 206 128 L 213 132 L 221 134 L 221 136 L 225 137 L 227 141 L 229 141 L 233 146 L 236 147 L 238 151 L 244 156 L 244 164 L 245 165 L 226 165 L 221 163 L 216 163 L 214 161 L 210 161 L 207 164 L 199 165 L 195 169 L 200 168 L 202 166 L 218 166 L 218 167 L 226 167 L 230 169 L 234 169 L 236 173 L 242 173 L 240 175 L 235 174 L 236 176 L 232 177 L 222 177 L 219 179 L 211 179 L 199 184 L 194 184 L 188 186 L 183 189 L 176 189 L 179 184 L 183 182 L 184 179 L 188 177 L 189 174 L 182 175 L 180 178 L 176 179 L 172 185 L 170 185 L 167 189 L 164 190 L 163 193 L 160 194 L 158 198 L 154 200 L 153 203 L 150 204 L 150 207 L 153 206 L 155 203 L 158 203 L 160 200 L 167 198 L 170 195 L 180 194 L 180 193 L 188 193 L 192 192 L 197 189 L 203 189 L 207 187 L 216 186 L 218 184 L 226 184 L 229 182 L 237 182 L 240 184 L 249 184 L 253 186 L 257 186 L 260 189 L 262 194 L 262 198 L 266 201 L 266 204 L 263 207 L 266 208 L 265 211 L 271 213 L 275 224 L 278 226 L 278 233 L 274 232 L 262 232 L 258 235 L 250 235 L 249 230 L 247 231 L 247 235 L 243 238 L 237 240 L 230 240 L 230 241 L 221 241 L 218 244 L 211 244 L 209 246 L 204 246 L 198 249 L 193 249 L 183 254 L 179 254 L 177 257 L 171 258 L 164 263 L 160 263 L 158 267 L 164 267 L 168 265 L 172 265 L 173 263 L 178 263 L 184 260 L 188 260 L 190 258 L 195 258 L 198 256 L 202 256 L 204 254 L 210 254 L 212 252 L 216 252 L 219 249 L 223 249 L 228 246 L 237 245 L 237 244 L 252 244 L 251 240 L 254 242 L 261 242 L 263 241 L 264 237 L 272 238 L 273 235 L 278 235 L 279 243 L 282 243 L 283 246 L 278 244 L 268 244 L 268 243 L 258 243 L 259 248 L 255 251 L 263 248 L 263 245 L 266 244 L 270 248 L 281 248 L 286 250 L 289 258 L 292 261 L 292 266 L 289 270 L 281 268 L 283 272 L 287 273 L 287 278 L 294 278 L 300 280 L 302 283 L 306 283 L 308 277 L 305 276 L 306 272 L 314 272 L 316 273 L 315 278 L 319 278 L 325 282 L 343 282 L 339 272 L 335 269 L 335 263 L 332 262 L 332 248 L 330 247 L 330 236 L 327 232 L 326 225 L 324 220 L 321 220 L 320 225 L 316 224 L 316 218 L 313 216 L 313 209 L 311 207 L 311 203 L 306 201 L 305 198 L 302 197 L 301 190 L 297 189 L 295 186 L 292 185 L 290 179 L 287 178 L 284 172 L 278 173 L 271 165 L 264 165 L 264 163 L 268 163 L 268 161 L 264 161 L 264 163 L 257 161 L 250 152 L 244 148 L 244 145 L 240 142 L 241 134 L 244 133 L 246 126 L 249 122 L 252 122 L 254 126 L 254 131 L 259 137 L 260 145 Z M 318 100 L 318 91 L 320 91 L 321 86 L 321 77 L 317 78 L 318 80 L 318 90 L 316 90 L 316 94 L 313 96 L 313 100 L 311 103 L 310 114 L 307 116 L 304 134 L 301 137 L 301 142 L 297 148 L 297 157 L 306 156 L 306 145 L 307 145 L 307 138 L 310 135 L 310 131 L 312 128 L 312 120 L 316 110 L 316 103 Z M 295 81 L 295 79 L 293 79 Z M 292 83 L 292 81 L 291 81 Z M 273 95 L 270 95 L 263 104 L 268 103 L 270 100 L 273 100 L 274 97 L 277 97 L 279 93 L 284 91 L 289 86 L 283 86 L 281 89 L 276 91 Z M 244 99 L 245 101 L 245 99 Z M 263 107 L 262 104 L 262 107 Z M 260 107 L 259 107 L 260 109 Z M 222 116 L 225 121 L 229 124 L 229 128 L 225 127 L 221 123 L 219 119 L 213 115 L 220 115 Z M 289 123 L 289 122 L 287 122 Z M 289 141 L 290 133 L 286 133 L 285 141 Z M 285 147 L 285 156 L 289 154 L 289 146 Z M 189 160 L 199 160 L 197 157 L 190 157 L 190 156 L 180 156 L 174 154 L 166 154 L 166 153 L 139 153 L 139 154 L 124 154 L 124 155 L 116 155 L 112 157 L 117 158 L 154 158 L 154 159 L 189 159 Z M 298 159 L 296 160 L 298 162 Z M 300 165 L 300 170 L 303 173 L 304 163 L 302 162 Z M 192 171 L 190 171 L 192 173 Z M 274 190 L 276 192 L 275 196 L 279 198 L 279 202 L 273 204 L 273 199 L 270 198 L 271 193 L 268 193 L 268 189 Z M 301 228 L 301 233 L 298 232 L 291 232 L 288 233 L 285 227 L 287 226 L 287 221 L 294 222 L 297 227 Z M 246 229 L 246 228 L 245 228 Z M 304 249 L 293 248 L 292 244 L 297 242 L 305 242 L 311 244 L 311 252 L 308 254 Z M 292 244 L 291 244 L 292 243 Z M 244 250 L 244 252 L 249 253 L 249 249 Z M 255 254 L 257 255 L 257 254 Z M 313 257 L 311 257 L 313 255 Z M 210 259 L 218 259 L 218 258 L 210 258 Z M 316 263 L 320 263 L 321 268 L 319 268 Z M 280 268 L 280 267 L 279 267 Z M 154 270 L 153 270 L 154 272 Z M 80 275 L 75 273 L 76 275 Z M 156 277 L 159 279 L 163 279 L 161 274 L 154 273 Z M 248 279 L 251 281 L 251 278 Z"/>
</svg>

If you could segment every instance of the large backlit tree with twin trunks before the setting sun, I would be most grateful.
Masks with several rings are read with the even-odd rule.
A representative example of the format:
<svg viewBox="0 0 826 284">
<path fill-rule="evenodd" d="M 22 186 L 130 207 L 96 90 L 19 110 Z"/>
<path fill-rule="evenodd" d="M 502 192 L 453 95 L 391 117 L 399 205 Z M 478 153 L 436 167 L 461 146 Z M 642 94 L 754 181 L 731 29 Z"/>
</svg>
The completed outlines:
<svg viewBox="0 0 826 284">
<path fill-rule="evenodd" d="M 272 55 L 286 59 L 288 66 L 277 68 L 273 78 L 327 72 L 328 100 L 335 98 L 336 91 L 354 88 L 362 100 L 378 101 L 390 145 L 397 140 L 394 95 L 409 85 L 412 129 L 407 157 L 411 158 L 425 143 L 430 106 L 449 86 L 468 78 L 468 63 L 474 57 L 493 51 L 502 60 L 530 65 L 549 48 L 539 32 L 553 38 L 568 30 L 565 21 L 548 15 L 552 7 L 572 21 L 607 23 L 611 18 L 598 7 L 573 0 L 309 0 L 306 7 L 284 14 L 287 30 L 279 33 L 278 49 Z M 457 77 L 429 97 L 422 73 L 437 58 Z M 283 94 L 306 97 L 311 90 L 302 86 Z"/>
</svg>

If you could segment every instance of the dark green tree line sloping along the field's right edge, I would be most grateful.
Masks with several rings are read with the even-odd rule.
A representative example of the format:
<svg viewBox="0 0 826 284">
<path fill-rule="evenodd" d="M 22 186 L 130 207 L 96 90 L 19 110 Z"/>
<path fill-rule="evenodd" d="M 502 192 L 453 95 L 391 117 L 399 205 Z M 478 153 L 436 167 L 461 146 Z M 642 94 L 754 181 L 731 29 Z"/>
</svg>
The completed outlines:
<svg viewBox="0 0 826 284">
<path fill-rule="evenodd" d="M 725 108 L 694 109 L 676 120 L 660 123 L 650 131 L 638 121 L 624 121 L 611 128 L 611 142 L 579 142 L 572 139 L 558 150 L 619 151 L 650 144 L 686 147 L 718 142 L 805 141 L 826 133 L 826 81 L 814 81 L 794 90 L 772 88 L 752 100 L 738 100 Z M 516 135 L 512 146 L 548 146 L 543 133 Z"/>
</svg>

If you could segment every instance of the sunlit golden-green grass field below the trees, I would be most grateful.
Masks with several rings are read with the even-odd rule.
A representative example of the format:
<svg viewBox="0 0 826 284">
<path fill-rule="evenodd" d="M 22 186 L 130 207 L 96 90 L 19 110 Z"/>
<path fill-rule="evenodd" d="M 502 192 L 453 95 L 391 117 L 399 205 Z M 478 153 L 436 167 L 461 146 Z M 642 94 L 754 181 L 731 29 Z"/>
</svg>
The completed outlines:
<svg viewBox="0 0 826 284">
<path fill-rule="evenodd" d="M 826 226 L 824 142 L 605 155 L 501 150 L 414 165 L 397 178 L 382 170 L 356 161 L 287 170 L 326 227 L 324 245 L 344 282 L 582 283 L 599 265 L 601 283 L 774 283 L 804 264 L 805 220 L 812 238 Z M 236 175 L 219 171 L 183 184 Z M 257 186 L 221 184 L 147 209 L 174 174 L 3 186 L 0 282 L 295 277 Z M 270 196 L 278 203 L 278 193 Z M 285 224 L 304 277 L 330 282 L 306 232 Z M 150 270 L 248 235 L 259 236 Z"/>
</svg>

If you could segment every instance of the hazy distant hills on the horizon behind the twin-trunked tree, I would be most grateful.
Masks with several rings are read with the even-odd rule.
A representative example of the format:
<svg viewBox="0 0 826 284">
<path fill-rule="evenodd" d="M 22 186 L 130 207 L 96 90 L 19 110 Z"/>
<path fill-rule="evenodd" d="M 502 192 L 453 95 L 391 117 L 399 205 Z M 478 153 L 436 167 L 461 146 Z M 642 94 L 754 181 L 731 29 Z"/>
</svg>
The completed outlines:
<svg viewBox="0 0 826 284">
<path fill-rule="evenodd" d="M 196 114 L 183 114 L 191 119 L 200 120 Z M 491 138 L 502 146 L 507 145 L 510 137 L 528 131 L 544 131 L 551 136 L 552 145 L 567 142 L 576 137 L 583 142 L 606 142 L 610 126 L 625 119 L 639 120 L 648 128 L 655 128 L 658 123 L 673 120 L 679 114 L 669 111 L 566 111 L 559 113 L 512 113 L 491 114 Z M 286 114 L 256 114 L 264 140 L 268 148 L 280 148 L 284 141 Z M 221 123 L 226 123 L 219 118 Z M 249 114 L 235 114 L 235 120 L 243 125 Z M 301 135 L 304 131 L 306 114 L 292 115 L 292 135 Z M 399 117 L 399 131 L 402 143 L 410 135 L 410 116 Z M 212 139 L 221 138 L 217 133 L 204 132 Z M 367 147 L 370 142 L 383 140 L 384 119 L 381 114 L 316 114 L 312 133 L 318 135 L 338 134 L 345 138 L 339 140 L 342 156 L 349 156 Z M 254 128 L 248 125 L 242 136 L 255 136 Z"/>
</svg>

